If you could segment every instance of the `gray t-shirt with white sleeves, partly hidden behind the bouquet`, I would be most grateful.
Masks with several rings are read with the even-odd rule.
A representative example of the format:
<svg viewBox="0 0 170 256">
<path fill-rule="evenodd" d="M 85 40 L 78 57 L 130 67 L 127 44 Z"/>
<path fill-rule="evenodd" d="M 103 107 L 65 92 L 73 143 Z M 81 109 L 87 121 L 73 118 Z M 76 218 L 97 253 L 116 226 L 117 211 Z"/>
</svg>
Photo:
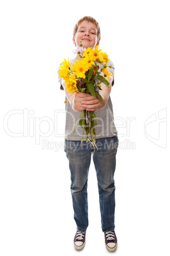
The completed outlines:
<svg viewBox="0 0 170 256">
<path fill-rule="evenodd" d="M 72 59 L 71 64 L 75 64 L 75 59 Z M 61 65 L 61 64 L 60 64 Z M 108 61 L 108 66 L 112 65 L 112 68 L 107 68 L 108 71 L 110 71 L 114 75 L 114 64 L 111 60 Z M 113 76 L 114 78 L 114 76 Z M 63 90 L 62 78 L 60 78 L 60 75 L 58 73 L 58 81 L 60 83 L 60 89 Z M 114 80 L 112 82 L 112 86 L 114 85 Z M 71 141 L 81 141 L 82 140 L 82 127 L 78 124 L 77 121 L 79 120 L 79 116 L 81 112 L 75 112 L 71 106 L 69 101 L 65 104 L 65 110 L 66 110 L 66 120 L 65 120 L 65 139 L 71 140 Z M 100 138 L 110 138 L 117 135 L 117 130 L 115 128 L 114 124 L 114 112 L 112 107 L 112 101 L 110 99 L 110 96 L 108 97 L 107 104 L 104 106 L 104 108 L 101 108 L 101 110 L 96 110 L 96 121 L 97 126 L 96 129 L 96 139 Z M 77 125 L 75 129 L 75 125 Z M 72 136 L 72 132 L 74 131 L 74 135 Z M 84 132 L 83 140 L 86 141 L 86 134 Z"/>
</svg>

